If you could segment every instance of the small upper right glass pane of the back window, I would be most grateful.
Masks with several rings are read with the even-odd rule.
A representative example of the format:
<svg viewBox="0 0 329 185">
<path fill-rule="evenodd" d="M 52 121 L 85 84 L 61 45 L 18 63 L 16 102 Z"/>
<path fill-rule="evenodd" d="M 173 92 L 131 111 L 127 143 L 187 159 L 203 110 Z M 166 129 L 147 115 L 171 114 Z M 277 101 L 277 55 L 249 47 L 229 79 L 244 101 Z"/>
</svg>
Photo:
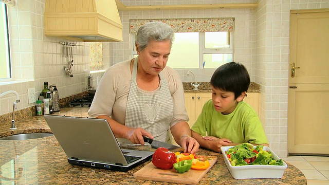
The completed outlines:
<svg viewBox="0 0 329 185">
<path fill-rule="evenodd" d="M 205 48 L 230 48 L 228 32 L 205 32 Z"/>
</svg>

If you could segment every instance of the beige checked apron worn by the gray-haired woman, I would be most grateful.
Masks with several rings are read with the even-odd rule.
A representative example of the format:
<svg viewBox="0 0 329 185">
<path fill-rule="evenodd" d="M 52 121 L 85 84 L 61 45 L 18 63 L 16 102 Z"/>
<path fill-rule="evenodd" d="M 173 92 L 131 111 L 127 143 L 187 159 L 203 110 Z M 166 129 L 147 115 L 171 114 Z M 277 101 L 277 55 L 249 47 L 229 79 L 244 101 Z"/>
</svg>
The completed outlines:
<svg viewBox="0 0 329 185">
<path fill-rule="evenodd" d="M 154 136 L 154 140 L 172 143 L 170 122 L 174 114 L 174 103 L 169 86 L 162 71 L 160 85 L 154 91 L 143 91 L 137 86 L 138 57 L 133 64 L 132 80 L 125 111 L 125 125 L 141 127 Z M 119 139 L 121 146 L 136 146 L 127 139 Z"/>
</svg>

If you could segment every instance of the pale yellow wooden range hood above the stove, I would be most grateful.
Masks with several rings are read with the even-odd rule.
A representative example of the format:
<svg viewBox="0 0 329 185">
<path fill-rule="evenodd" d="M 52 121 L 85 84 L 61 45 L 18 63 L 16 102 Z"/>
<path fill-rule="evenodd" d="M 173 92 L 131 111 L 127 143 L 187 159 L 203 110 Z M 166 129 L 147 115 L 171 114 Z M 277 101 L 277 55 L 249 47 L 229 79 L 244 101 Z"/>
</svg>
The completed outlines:
<svg viewBox="0 0 329 185">
<path fill-rule="evenodd" d="M 45 35 L 80 42 L 122 42 L 115 0 L 46 0 Z"/>
</svg>

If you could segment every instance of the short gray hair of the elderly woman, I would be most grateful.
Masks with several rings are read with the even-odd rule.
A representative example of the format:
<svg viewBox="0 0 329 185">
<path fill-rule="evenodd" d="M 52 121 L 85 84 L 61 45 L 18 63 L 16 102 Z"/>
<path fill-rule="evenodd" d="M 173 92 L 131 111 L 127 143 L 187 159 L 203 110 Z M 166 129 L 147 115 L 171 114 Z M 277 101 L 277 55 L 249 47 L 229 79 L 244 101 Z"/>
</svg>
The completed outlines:
<svg viewBox="0 0 329 185">
<path fill-rule="evenodd" d="M 138 44 L 139 51 L 142 51 L 147 47 L 150 41 L 170 41 L 170 47 L 174 42 L 174 31 L 173 29 L 162 22 L 149 22 L 142 25 L 136 35 L 135 46 Z"/>
</svg>

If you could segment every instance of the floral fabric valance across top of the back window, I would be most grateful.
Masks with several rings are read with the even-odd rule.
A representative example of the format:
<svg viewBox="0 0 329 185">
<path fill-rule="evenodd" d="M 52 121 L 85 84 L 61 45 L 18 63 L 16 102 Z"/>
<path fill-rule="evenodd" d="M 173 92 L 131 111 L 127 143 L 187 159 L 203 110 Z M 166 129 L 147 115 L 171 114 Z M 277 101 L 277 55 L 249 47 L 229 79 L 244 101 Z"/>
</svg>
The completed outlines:
<svg viewBox="0 0 329 185">
<path fill-rule="evenodd" d="M 137 33 L 140 26 L 155 21 L 170 25 L 174 32 L 233 31 L 234 28 L 234 18 L 170 18 L 130 20 L 130 32 Z"/>
</svg>

